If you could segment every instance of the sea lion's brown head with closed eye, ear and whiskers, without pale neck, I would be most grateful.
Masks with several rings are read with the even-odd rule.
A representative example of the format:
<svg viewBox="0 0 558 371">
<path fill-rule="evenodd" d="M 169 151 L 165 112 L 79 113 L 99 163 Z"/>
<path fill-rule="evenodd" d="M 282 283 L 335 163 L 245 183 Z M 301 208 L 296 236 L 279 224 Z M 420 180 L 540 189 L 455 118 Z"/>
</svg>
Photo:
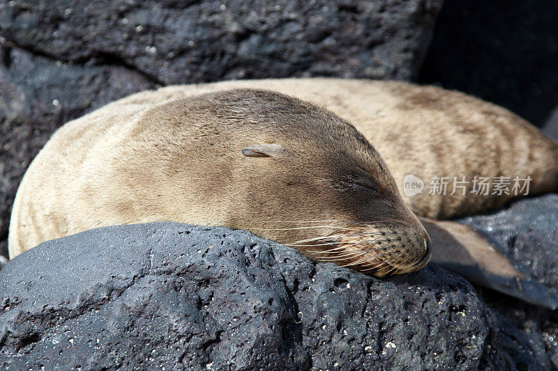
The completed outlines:
<svg viewBox="0 0 558 371">
<path fill-rule="evenodd" d="M 331 111 L 250 89 L 162 109 L 157 120 L 189 123 L 189 148 L 180 159 L 188 171 L 183 207 L 199 204 L 197 223 L 250 230 L 312 260 L 375 276 L 414 271 L 430 260 L 428 234 L 384 160 Z M 181 141 L 181 134 L 165 132 L 165 140 Z"/>
</svg>

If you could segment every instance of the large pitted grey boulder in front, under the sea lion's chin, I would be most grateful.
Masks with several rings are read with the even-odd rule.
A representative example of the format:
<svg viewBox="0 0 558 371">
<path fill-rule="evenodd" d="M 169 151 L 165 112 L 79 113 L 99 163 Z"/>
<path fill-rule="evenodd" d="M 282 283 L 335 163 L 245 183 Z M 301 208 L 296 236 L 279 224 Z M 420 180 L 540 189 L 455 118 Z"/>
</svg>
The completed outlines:
<svg viewBox="0 0 558 371">
<path fill-rule="evenodd" d="M 379 280 L 228 228 L 100 228 L 0 271 L 4 370 L 504 368 L 496 325 L 435 265 Z"/>
</svg>

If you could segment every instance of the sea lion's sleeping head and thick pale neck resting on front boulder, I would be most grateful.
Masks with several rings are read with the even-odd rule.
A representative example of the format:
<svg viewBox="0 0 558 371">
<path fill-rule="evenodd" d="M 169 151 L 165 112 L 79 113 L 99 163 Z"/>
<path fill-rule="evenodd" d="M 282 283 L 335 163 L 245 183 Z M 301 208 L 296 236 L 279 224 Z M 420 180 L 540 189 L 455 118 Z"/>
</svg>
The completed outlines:
<svg viewBox="0 0 558 371">
<path fill-rule="evenodd" d="M 251 89 L 116 102 L 64 125 L 17 192 L 10 258 L 152 221 L 250 230 L 376 276 L 430 259 L 428 233 L 360 132 L 314 104 Z"/>
</svg>

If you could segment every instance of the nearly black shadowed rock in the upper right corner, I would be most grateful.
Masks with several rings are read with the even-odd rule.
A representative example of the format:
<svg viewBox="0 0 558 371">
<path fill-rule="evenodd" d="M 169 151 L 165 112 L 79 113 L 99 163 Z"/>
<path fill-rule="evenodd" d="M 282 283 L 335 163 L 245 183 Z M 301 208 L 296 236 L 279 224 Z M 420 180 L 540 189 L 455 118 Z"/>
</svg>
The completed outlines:
<svg viewBox="0 0 558 371">
<path fill-rule="evenodd" d="M 555 0 L 446 1 L 419 81 L 500 104 L 543 125 L 558 104 Z"/>
</svg>

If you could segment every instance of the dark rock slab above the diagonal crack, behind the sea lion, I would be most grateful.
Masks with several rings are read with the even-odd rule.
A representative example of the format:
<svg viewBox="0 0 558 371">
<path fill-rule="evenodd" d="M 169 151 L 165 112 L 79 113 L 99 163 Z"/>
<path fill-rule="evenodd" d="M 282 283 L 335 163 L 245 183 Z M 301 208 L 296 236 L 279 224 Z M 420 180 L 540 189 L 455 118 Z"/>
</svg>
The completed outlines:
<svg viewBox="0 0 558 371">
<path fill-rule="evenodd" d="M 1 35 L 163 84 L 293 74 L 409 79 L 442 0 L 4 1 Z"/>
</svg>

